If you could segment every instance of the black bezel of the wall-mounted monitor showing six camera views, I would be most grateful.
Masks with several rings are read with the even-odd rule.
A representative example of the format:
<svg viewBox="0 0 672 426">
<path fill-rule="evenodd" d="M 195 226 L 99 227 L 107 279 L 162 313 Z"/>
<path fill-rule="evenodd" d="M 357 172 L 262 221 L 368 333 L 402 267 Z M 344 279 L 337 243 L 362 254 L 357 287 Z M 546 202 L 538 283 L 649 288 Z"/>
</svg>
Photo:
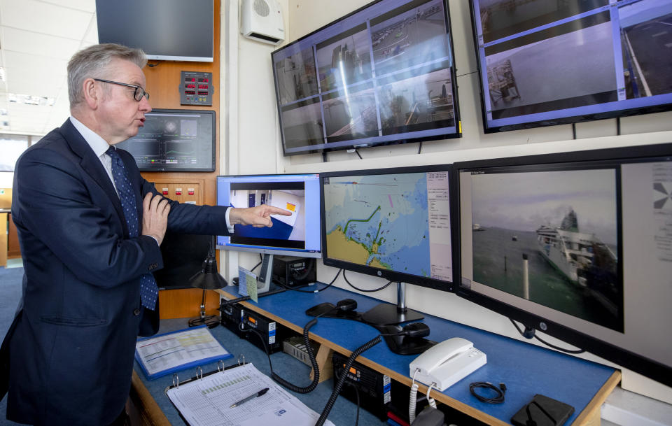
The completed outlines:
<svg viewBox="0 0 672 426">
<path fill-rule="evenodd" d="M 373 6 L 376 3 L 380 3 L 381 1 L 386 1 L 386 0 L 374 0 L 370 3 L 365 4 L 364 6 L 353 10 L 351 13 L 348 13 L 347 15 L 343 15 L 342 17 L 339 17 L 337 20 L 333 20 L 332 22 L 329 22 L 328 24 L 323 25 L 322 27 L 319 27 L 315 31 L 311 31 L 309 34 L 306 34 L 302 36 L 301 38 L 298 38 L 297 40 L 293 41 L 292 43 L 288 43 L 286 45 L 283 45 L 281 48 L 277 48 L 276 50 L 271 52 L 271 67 L 273 69 L 273 87 L 275 90 L 275 100 L 276 100 L 276 109 L 278 112 L 278 121 L 279 121 L 279 127 L 280 127 L 280 139 L 281 139 L 281 145 L 282 145 L 282 153 L 283 156 L 285 157 L 290 157 L 292 155 L 303 155 L 303 154 L 316 154 L 316 153 L 323 153 L 323 152 L 332 152 L 332 151 L 339 151 L 339 150 L 356 150 L 360 148 L 372 148 L 372 147 L 378 147 L 378 146 L 389 146 L 389 145 L 400 145 L 403 143 L 415 143 L 415 142 L 425 142 L 425 141 L 438 141 L 438 140 L 444 140 L 444 139 L 456 139 L 456 138 L 461 138 L 462 137 L 462 122 L 460 118 L 460 103 L 459 103 L 459 97 L 458 97 L 458 85 L 457 85 L 457 72 L 456 72 L 456 62 L 455 62 L 455 44 L 453 43 L 453 30 L 451 26 L 451 19 L 450 19 L 450 10 L 449 10 L 449 5 L 447 0 L 442 0 L 444 4 L 444 18 L 445 22 L 447 23 L 447 36 L 448 36 L 448 41 L 449 41 L 449 48 L 451 50 L 451 59 L 452 59 L 452 66 L 450 70 L 450 75 L 451 75 L 451 86 L 452 86 L 452 91 L 453 91 L 453 104 L 454 104 L 454 120 L 455 120 L 455 129 L 456 131 L 454 133 L 446 133 L 446 134 L 437 134 L 433 136 L 423 136 L 423 137 L 417 137 L 417 138 L 402 138 L 400 137 L 399 139 L 395 139 L 393 141 L 381 141 L 377 143 L 356 143 L 357 139 L 353 140 L 353 143 L 350 145 L 343 145 L 343 146 L 337 146 L 337 147 L 325 147 L 325 148 L 317 148 L 317 149 L 310 149 L 309 146 L 305 147 L 305 150 L 300 150 L 297 152 L 287 152 L 286 146 L 285 146 L 285 139 L 284 139 L 284 134 L 282 132 L 282 123 L 281 123 L 281 117 L 282 117 L 282 108 L 280 104 L 280 97 L 278 93 L 278 87 L 277 87 L 277 74 L 276 74 L 276 68 L 274 66 L 273 62 L 273 55 L 275 55 L 277 52 L 280 52 L 281 50 L 284 50 L 286 48 L 290 48 L 290 46 L 295 45 L 297 43 L 300 43 L 306 38 L 309 38 L 311 36 L 314 36 L 320 31 L 323 31 L 325 29 L 328 29 L 328 27 L 331 27 L 332 25 L 338 24 L 339 22 L 342 22 L 348 17 L 351 17 L 352 15 L 355 15 L 356 13 L 360 13 L 363 10 L 369 8 L 370 6 Z"/>
</svg>

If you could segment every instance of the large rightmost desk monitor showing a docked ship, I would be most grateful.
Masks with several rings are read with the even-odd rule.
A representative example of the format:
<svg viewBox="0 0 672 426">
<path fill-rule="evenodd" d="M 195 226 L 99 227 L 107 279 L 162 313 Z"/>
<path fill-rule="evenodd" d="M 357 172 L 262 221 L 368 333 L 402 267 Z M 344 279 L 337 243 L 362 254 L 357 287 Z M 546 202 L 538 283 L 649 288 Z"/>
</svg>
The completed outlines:
<svg viewBox="0 0 672 426">
<path fill-rule="evenodd" d="M 672 385 L 672 144 L 454 167 L 458 294 Z"/>
</svg>

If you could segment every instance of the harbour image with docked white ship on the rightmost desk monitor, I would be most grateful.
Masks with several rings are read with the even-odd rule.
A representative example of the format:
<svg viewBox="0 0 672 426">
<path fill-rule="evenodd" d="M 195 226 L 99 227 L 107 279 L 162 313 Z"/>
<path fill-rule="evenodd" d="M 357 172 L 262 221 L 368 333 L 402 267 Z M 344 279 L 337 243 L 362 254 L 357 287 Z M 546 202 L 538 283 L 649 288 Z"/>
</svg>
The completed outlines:
<svg viewBox="0 0 672 426">
<path fill-rule="evenodd" d="M 615 169 L 484 173 L 471 185 L 474 281 L 623 330 Z"/>
</svg>

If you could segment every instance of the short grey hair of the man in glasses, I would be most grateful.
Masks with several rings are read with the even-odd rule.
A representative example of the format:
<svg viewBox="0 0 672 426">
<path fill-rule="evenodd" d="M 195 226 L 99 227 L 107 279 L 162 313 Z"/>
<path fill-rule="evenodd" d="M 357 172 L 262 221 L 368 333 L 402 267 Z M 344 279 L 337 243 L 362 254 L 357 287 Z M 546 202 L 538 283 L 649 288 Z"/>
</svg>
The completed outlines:
<svg viewBox="0 0 672 426">
<path fill-rule="evenodd" d="M 112 59 L 123 59 L 144 68 L 145 52 L 124 45 L 104 43 L 92 45 L 75 53 L 68 62 L 68 96 L 70 108 L 84 100 L 82 85 L 87 78 L 104 78 Z"/>
</svg>

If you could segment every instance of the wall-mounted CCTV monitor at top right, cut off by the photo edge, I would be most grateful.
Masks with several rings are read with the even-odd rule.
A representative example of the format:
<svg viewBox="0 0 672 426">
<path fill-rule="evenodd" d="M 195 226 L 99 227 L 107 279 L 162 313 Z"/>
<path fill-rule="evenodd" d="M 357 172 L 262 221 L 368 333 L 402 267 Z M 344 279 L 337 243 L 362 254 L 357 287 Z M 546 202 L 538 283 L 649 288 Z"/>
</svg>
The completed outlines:
<svg viewBox="0 0 672 426">
<path fill-rule="evenodd" d="M 672 0 L 471 0 L 486 133 L 672 109 Z"/>
</svg>

